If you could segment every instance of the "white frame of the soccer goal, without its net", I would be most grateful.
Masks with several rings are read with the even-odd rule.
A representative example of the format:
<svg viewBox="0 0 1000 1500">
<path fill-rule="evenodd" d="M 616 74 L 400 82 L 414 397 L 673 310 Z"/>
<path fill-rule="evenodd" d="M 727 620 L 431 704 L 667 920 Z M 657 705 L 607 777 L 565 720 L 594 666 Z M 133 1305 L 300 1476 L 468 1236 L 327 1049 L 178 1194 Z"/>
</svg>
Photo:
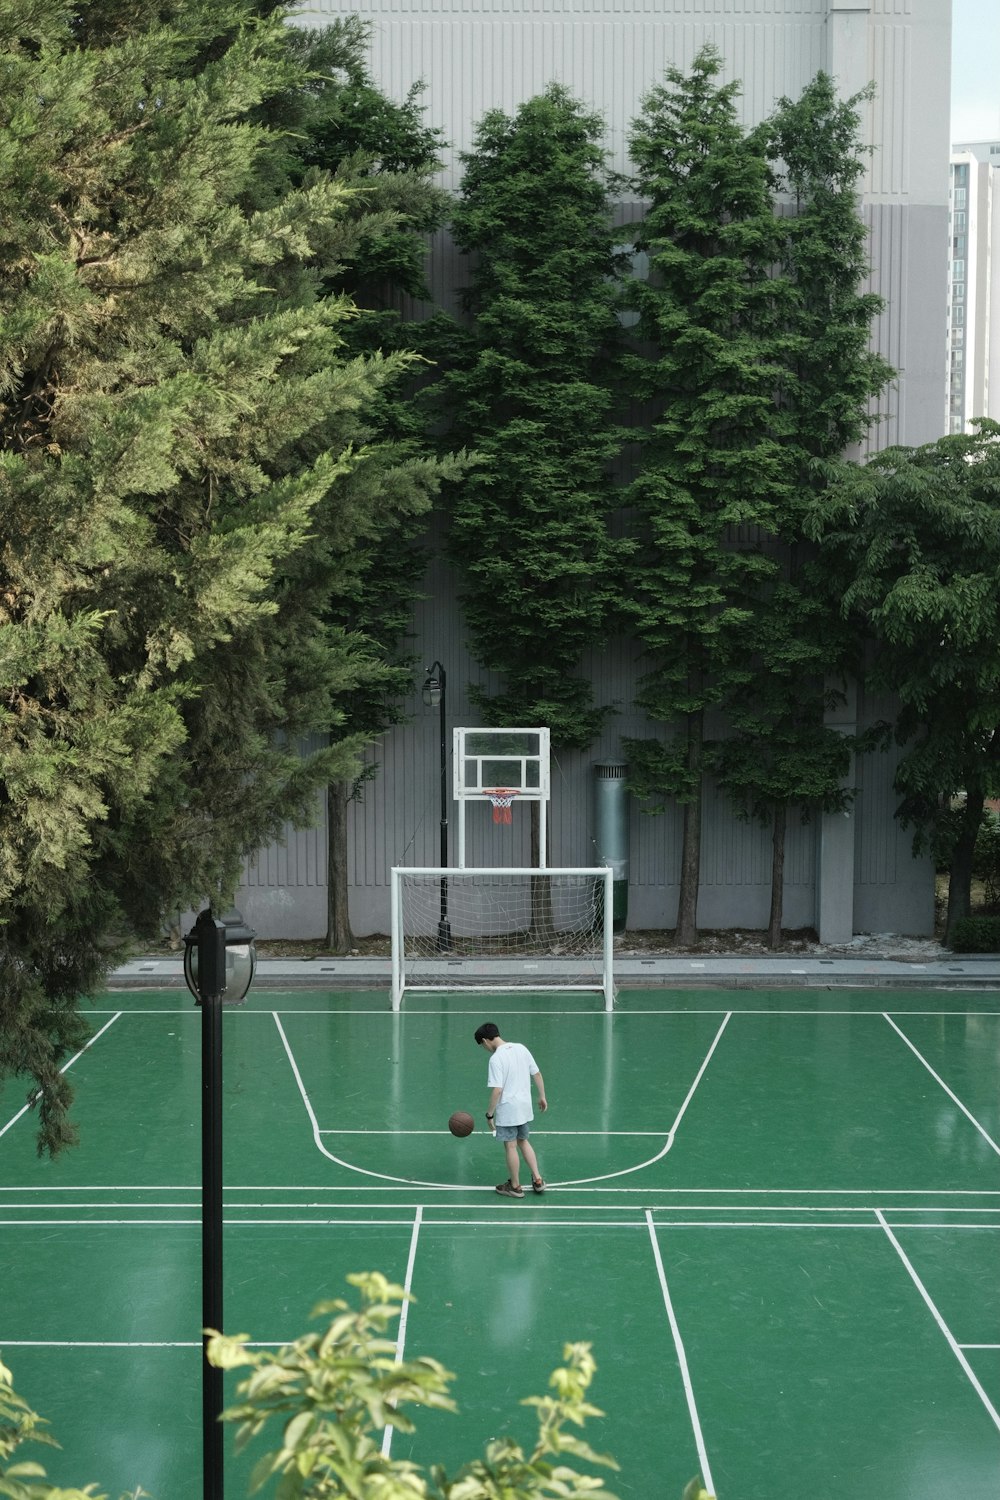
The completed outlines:
<svg viewBox="0 0 1000 1500">
<path fill-rule="evenodd" d="M 451 890 L 462 880 L 475 880 L 477 878 L 487 878 L 496 880 L 504 876 L 544 876 L 549 880 L 558 880 L 559 876 L 579 876 L 583 879 L 600 880 L 604 888 L 603 900 L 603 924 L 600 934 L 600 952 L 586 960 L 592 964 L 592 976 L 586 976 L 580 981 L 579 976 L 571 976 L 570 980 L 561 982 L 559 969 L 573 968 L 573 962 L 568 960 L 562 963 L 561 960 L 544 960 L 546 969 L 540 970 L 538 960 L 519 960 L 511 957 L 475 957 L 475 954 L 468 954 L 465 957 L 448 957 L 448 950 L 441 951 L 439 960 L 421 960 L 421 968 L 430 972 L 415 975 L 412 970 L 408 974 L 408 964 L 411 960 L 406 954 L 406 933 L 403 928 L 403 879 L 406 876 L 423 876 L 427 879 L 438 879 L 441 882 L 448 882 L 445 890 Z M 568 993 L 571 990 L 585 990 L 589 993 L 597 992 L 604 999 L 604 1010 L 610 1011 L 615 1008 L 615 936 L 613 936 L 613 880 L 615 872 L 610 866 L 600 866 L 597 868 L 583 867 L 565 867 L 540 868 L 537 866 L 484 866 L 484 867 L 450 867 L 441 868 L 438 866 L 396 866 L 391 872 L 391 942 L 393 942 L 393 1010 L 397 1011 L 403 1004 L 403 994 L 408 990 L 414 993 L 429 993 L 429 992 L 457 992 L 489 987 L 493 992 L 517 993 L 525 988 L 543 990 L 543 992 L 558 992 Z M 597 945 L 595 945 L 597 948 Z M 576 964 L 579 969 L 579 963 Z M 465 969 L 465 980 L 459 970 Z"/>
</svg>

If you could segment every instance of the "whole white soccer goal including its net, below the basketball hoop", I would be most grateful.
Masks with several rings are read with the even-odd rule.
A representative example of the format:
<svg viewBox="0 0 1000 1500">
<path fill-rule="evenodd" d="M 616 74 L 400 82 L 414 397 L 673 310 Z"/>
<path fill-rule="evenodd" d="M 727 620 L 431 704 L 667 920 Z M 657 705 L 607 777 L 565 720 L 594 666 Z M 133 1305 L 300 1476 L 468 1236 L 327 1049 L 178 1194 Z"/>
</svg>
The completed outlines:
<svg viewBox="0 0 1000 1500">
<path fill-rule="evenodd" d="M 592 990 L 613 1005 L 612 868 L 394 868 L 393 1010 L 408 990 Z"/>
</svg>

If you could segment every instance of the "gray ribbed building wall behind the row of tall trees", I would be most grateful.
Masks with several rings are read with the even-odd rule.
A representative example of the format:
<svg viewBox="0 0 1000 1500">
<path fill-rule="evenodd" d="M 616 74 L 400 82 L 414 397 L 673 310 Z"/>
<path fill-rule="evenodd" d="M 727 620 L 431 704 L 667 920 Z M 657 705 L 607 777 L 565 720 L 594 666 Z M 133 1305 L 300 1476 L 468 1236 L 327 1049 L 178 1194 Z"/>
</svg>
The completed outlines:
<svg viewBox="0 0 1000 1500">
<path fill-rule="evenodd" d="M 687 68 L 714 44 L 724 81 L 742 84 L 745 122 L 763 118 L 778 98 L 795 98 L 820 70 L 844 94 L 870 81 L 876 98 L 865 128 L 873 156 L 862 212 L 871 234 L 871 285 L 886 308 L 874 339 L 900 372 L 885 394 L 870 447 L 933 441 L 942 434 L 949 232 L 951 0 L 315 0 L 300 24 L 360 14 L 372 22 L 372 70 L 393 98 L 426 84 L 429 123 L 450 141 L 444 183 L 459 180 L 457 153 L 472 141 L 489 108 L 513 111 L 549 82 L 561 81 L 607 120 L 613 165 L 627 168 L 625 138 L 643 93 L 669 64 Z M 459 258 L 442 242 L 430 260 L 435 298 L 448 304 Z M 489 546 L 489 537 L 483 538 Z M 492 686 L 471 660 L 456 603 L 456 584 L 435 561 L 426 600 L 414 620 L 414 650 L 448 674 L 450 724 L 475 724 L 469 682 Z M 585 754 L 553 759 L 550 864 L 595 858 L 594 764 L 621 759 L 624 736 L 649 730 L 634 710 L 642 672 L 634 644 L 618 640 L 585 663 L 595 700 L 615 704 L 603 738 Z M 885 717 L 885 704 L 862 693 L 841 714 L 849 732 Z M 349 818 L 351 921 L 357 934 L 388 930 L 388 882 L 394 864 L 436 866 L 439 849 L 439 723 L 420 699 L 412 717 L 372 746 L 376 776 Z M 894 760 L 867 756 L 853 774 L 849 814 L 796 822 L 786 856 L 786 927 L 816 927 L 828 942 L 861 932 L 927 934 L 934 922 L 934 882 L 927 860 L 894 818 Z M 468 862 L 528 862 L 528 816 L 493 825 L 474 808 Z M 675 926 L 681 818 L 630 812 L 628 922 Z M 454 858 L 454 854 L 453 854 Z M 325 932 L 325 816 L 289 831 L 247 864 L 240 906 L 262 936 L 315 938 Z M 766 926 L 771 879 L 769 831 L 739 820 L 721 796 L 705 810 L 699 924 Z"/>
</svg>

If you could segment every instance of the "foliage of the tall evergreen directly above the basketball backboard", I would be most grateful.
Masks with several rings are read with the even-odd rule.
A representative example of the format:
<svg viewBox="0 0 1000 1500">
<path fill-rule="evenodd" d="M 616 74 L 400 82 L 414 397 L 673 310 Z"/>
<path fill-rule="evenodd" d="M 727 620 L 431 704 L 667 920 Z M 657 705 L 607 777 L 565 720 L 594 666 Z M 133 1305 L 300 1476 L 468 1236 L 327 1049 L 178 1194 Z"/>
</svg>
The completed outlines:
<svg viewBox="0 0 1000 1500">
<path fill-rule="evenodd" d="M 607 465 L 618 261 L 603 124 L 559 86 L 480 123 L 454 212 L 474 324 L 442 382 L 480 465 L 451 496 L 450 552 L 493 724 L 547 724 L 589 744 L 609 710 L 580 657 L 606 632 L 621 546 Z"/>
</svg>

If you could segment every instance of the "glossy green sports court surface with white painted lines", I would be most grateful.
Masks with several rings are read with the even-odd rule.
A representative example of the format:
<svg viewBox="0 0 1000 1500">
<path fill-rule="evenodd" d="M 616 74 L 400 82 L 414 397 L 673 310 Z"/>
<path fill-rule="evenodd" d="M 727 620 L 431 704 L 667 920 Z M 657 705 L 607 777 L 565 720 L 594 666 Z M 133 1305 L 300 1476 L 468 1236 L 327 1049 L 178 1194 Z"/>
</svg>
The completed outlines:
<svg viewBox="0 0 1000 1500">
<path fill-rule="evenodd" d="M 396 1456 L 528 1442 L 568 1340 L 622 1497 L 997 1500 L 1000 994 L 255 992 L 225 1014 L 228 1332 L 304 1332 L 351 1270 L 415 1302 L 406 1354 L 456 1371 Z M 481 1122 L 496 1020 L 543 1070 L 544 1197 L 499 1198 Z M 201 1490 L 199 1012 L 102 996 L 73 1060 L 81 1146 L 34 1154 L 0 1096 L 0 1352 L 60 1484 Z M 522 1178 L 526 1180 L 526 1178 Z M 255 1455 L 253 1455 L 255 1456 Z M 226 1492 L 250 1462 L 228 1455 Z"/>
</svg>

